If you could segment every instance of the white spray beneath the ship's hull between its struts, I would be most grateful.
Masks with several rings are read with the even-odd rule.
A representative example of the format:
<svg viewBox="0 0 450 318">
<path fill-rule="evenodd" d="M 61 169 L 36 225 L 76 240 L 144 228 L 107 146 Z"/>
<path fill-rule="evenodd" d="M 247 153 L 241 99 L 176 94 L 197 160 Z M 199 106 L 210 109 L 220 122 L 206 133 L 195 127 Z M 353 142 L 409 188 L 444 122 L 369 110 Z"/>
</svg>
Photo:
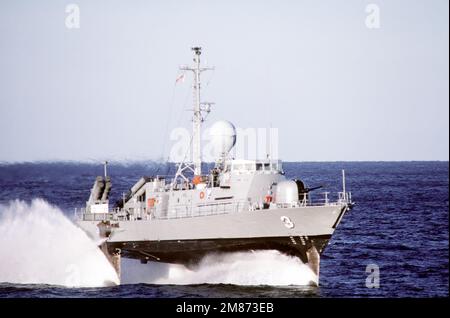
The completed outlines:
<svg viewBox="0 0 450 318">
<path fill-rule="evenodd" d="M 278 251 L 254 251 L 206 256 L 198 266 L 140 264 L 122 259 L 122 283 L 151 284 L 235 284 L 235 285 L 311 285 L 317 276 L 298 258 Z"/>
</svg>

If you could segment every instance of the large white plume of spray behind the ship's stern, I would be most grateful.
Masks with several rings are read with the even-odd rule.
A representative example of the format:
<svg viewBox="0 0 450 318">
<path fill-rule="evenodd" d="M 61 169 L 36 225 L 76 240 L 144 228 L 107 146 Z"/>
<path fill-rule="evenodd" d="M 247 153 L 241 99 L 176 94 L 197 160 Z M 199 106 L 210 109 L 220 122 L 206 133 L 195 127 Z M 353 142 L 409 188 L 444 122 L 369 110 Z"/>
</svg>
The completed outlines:
<svg viewBox="0 0 450 318">
<path fill-rule="evenodd" d="M 44 200 L 0 205 L 0 282 L 99 287 L 118 284 L 97 245 Z"/>
</svg>

